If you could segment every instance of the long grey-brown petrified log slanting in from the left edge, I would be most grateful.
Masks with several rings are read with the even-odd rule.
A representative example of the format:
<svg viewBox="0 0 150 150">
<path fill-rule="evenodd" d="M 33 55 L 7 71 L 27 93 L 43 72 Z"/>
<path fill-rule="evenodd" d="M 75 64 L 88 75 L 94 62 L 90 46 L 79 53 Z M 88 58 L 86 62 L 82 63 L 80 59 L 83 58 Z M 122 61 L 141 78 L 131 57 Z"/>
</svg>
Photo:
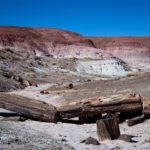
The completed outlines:
<svg viewBox="0 0 150 150">
<path fill-rule="evenodd" d="M 0 107 L 39 121 L 57 122 L 59 116 L 52 105 L 11 94 L 0 93 Z"/>
</svg>

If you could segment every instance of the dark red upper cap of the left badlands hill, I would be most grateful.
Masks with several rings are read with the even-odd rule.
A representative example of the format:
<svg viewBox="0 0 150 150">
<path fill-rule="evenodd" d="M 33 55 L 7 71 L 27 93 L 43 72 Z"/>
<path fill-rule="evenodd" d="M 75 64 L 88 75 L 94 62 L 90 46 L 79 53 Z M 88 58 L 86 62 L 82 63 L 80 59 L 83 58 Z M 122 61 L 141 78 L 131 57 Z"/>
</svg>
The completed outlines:
<svg viewBox="0 0 150 150">
<path fill-rule="evenodd" d="M 54 48 L 63 45 L 93 47 L 93 43 L 77 33 L 55 28 L 0 27 L 0 47 L 20 48 L 51 54 Z"/>
</svg>

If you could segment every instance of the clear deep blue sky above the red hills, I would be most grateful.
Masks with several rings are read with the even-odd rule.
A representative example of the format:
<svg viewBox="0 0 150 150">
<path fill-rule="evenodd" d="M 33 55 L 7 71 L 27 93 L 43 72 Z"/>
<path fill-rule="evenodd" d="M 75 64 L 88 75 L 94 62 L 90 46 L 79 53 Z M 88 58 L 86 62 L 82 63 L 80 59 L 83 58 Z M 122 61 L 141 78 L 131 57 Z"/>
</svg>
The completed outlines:
<svg viewBox="0 0 150 150">
<path fill-rule="evenodd" d="M 0 25 L 82 35 L 150 35 L 150 0 L 0 0 Z"/>
</svg>

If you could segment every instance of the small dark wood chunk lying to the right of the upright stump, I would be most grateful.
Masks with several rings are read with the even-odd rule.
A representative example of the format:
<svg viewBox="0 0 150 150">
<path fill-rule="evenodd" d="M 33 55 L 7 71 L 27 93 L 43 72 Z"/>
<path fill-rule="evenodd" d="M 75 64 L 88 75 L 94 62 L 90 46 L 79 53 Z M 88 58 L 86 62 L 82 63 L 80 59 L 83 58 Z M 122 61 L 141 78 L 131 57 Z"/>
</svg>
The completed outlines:
<svg viewBox="0 0 150 150">
<path fill-rule="evenodd" d="M 138 117 L 127 120 L 127 124 L 128 126 L 134 126 L 136 124 L 144 122 L 144 120 L 145 120 L 145 117 L 144 115 L 142 115 L 142 116 L 138 116 Z"/>
</svg>

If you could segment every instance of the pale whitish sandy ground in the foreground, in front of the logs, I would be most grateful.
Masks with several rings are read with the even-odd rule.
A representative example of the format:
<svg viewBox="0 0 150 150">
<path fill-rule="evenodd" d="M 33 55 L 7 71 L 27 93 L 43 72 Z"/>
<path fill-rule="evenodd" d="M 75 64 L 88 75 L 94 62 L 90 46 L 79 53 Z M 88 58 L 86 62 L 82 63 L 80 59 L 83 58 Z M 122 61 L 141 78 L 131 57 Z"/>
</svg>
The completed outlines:
<svg viewBox="0 0 150 150">
<path fill-rule="evenodd" d="M 25 122 L 0 122 L 0 146 L 11 149 L 50 149 L 50 150 L 149 150 L 150 120 L 128 127 L 126 122 L 120 124 L 121 134 L 136 136 L 136 143 L 121 140 L 106 140 L 100 145 L 86 145 L 82 140 L 93 137 L 97 139 L 95 124 L 44 123 L 27 120 Z M 7 147 L 7 149 L 9 149 Z"/>
</svg>

